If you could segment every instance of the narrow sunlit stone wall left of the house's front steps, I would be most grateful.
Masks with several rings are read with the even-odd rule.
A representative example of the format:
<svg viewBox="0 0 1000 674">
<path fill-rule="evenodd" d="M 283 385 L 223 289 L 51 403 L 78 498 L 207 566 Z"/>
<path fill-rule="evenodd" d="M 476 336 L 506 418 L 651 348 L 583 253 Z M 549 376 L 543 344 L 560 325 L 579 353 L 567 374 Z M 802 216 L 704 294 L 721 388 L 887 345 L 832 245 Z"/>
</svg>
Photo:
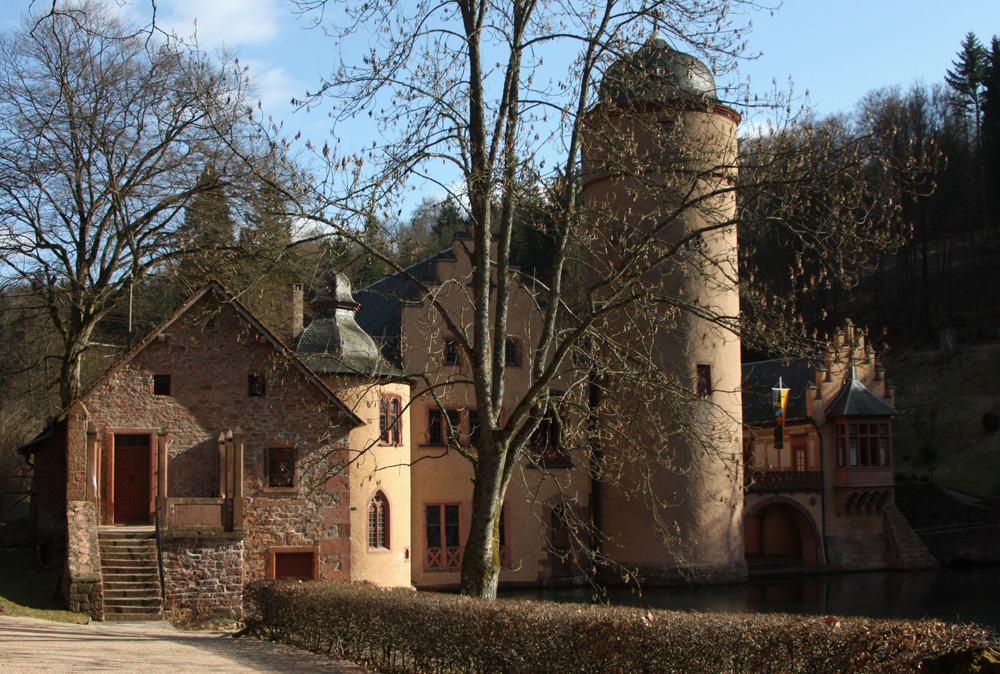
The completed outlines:
<svg viewBox="0 0 1000 674">
<path fill-rule="evenodd" d="M 66 504 L 66 573 L 63 593 L 69 610 L 104 619 L 101 552 L 97 541 L 97 509 L 88 501 Z"/>
</svg>

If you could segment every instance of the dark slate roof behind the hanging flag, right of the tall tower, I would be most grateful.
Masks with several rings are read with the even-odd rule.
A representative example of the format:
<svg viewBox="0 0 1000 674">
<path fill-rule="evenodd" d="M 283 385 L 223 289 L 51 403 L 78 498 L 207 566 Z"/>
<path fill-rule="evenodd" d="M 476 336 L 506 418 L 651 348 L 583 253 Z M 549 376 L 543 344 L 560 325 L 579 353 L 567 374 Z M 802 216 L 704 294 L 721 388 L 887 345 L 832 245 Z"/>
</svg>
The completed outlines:
<svg viewBox="0 0 1000 674">
<path fill-rule="evenodd" d="M 743 423 L 748 426 L 773 424 L 771 389 L 778 380 L 789 388 L 785 408 L 787 421 L 801 421 L 806 415 L 806 386 L 816 381 L 816 361 L 785 358 L 743 364 Z"/>
</svg>

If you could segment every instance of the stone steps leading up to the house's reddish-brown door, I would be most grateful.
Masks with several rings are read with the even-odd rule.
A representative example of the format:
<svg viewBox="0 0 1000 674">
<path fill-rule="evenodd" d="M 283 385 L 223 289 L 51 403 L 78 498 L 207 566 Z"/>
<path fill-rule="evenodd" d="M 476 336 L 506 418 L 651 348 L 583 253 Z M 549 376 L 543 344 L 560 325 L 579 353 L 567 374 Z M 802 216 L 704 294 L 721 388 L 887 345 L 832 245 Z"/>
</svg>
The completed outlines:
<svg viewBox="0 0 1000 674">
<path fill-rule="evenodd" d="M 152 531 L 101 530 L 105 620 L 163 620 Z"/>
</svg>

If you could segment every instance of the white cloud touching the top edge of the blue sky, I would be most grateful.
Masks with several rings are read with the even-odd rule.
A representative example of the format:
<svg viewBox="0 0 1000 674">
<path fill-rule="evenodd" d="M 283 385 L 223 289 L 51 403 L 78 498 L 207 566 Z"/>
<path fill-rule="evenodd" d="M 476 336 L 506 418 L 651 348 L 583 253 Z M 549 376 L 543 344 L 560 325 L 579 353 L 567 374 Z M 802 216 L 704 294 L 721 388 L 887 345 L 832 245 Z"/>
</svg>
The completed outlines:
<svg viewBox="0 0 1000 674">
<path fill-rule="evenodd" d="M 157 21 L 168 32 L 188 37 L 197 27 L 202 48 L 269 42 L 285 12 L 277 0 L 169 0 L 159 11 Z"/>
</svg>

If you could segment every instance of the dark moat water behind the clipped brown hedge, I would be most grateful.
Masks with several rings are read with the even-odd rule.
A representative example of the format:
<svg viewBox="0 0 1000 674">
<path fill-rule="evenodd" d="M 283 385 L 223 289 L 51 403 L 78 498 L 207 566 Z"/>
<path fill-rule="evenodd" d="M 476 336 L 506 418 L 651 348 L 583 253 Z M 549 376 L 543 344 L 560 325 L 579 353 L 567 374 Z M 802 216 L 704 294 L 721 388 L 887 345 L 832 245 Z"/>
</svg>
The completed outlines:
<svg viewBox="0 0 1000 674">
<path fill-rule="evenodd" d="M 501 596 L 587 603 L 593 590 L 559 588 L 509 590 Z M 1000 635 L 1000 567 L 842 573 L 753 579 L 745 585 L 644 589 L 635 594 L 609 589 L 617 606 L 674 611 L 743 611 L 874 618 L 938 618 L 977 622 Z"/>
</svg>

